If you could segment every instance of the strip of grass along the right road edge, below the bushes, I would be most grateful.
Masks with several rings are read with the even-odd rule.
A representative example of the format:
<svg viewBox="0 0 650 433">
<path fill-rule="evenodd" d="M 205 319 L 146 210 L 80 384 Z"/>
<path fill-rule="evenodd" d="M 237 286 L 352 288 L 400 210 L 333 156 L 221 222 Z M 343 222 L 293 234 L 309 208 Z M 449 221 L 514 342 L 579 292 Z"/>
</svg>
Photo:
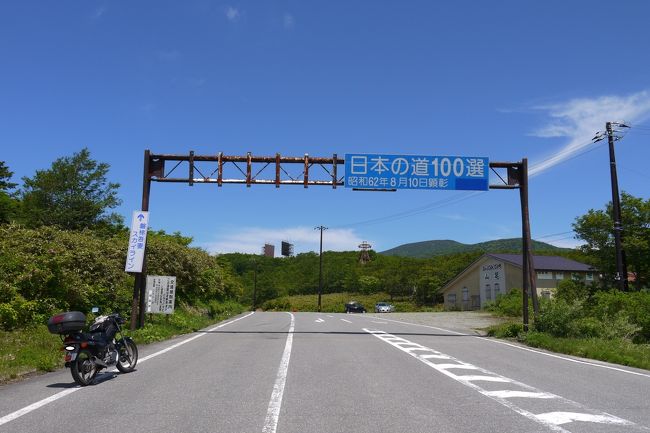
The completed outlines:
<svg viewBox="0 0 650 433">
<path fill-rule="evenodd" d="M 515 321 L 491 326 L 487 333 L 552 352 L 650 370 L 650 344 L 634 344 L 624 339 L 559 338 L 535 331 L 524 334 L 521 322 Z"/>
</svg>

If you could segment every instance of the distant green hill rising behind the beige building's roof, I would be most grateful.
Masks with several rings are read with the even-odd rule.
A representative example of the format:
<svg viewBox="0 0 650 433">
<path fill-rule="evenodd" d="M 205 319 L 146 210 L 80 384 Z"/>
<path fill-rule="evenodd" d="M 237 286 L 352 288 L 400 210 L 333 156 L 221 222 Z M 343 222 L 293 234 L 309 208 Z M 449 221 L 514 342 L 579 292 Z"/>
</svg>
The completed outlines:
<svg viewBox="0 0 650 433">
<path fill-rule="evenodd" d="M 533 252 L 538 253 L 541 251 L 568 251 L 567 248 L 559 248 L 544 242 L 533 240 Z M 387 256 L 400 256 L 400 257 L 416 257 L 427 258 L 434 256 L 442 256 L 454 253 L 468 253 L 474 251 L 483 251 L 486 253 L 516 253 L 521 252 L 521 238 L 513 239 L 497 239 L 494 241 L 481 242 L 478 244 L 463 244 L 451 240 L 436 240 L 436 241 L 423 241 L 414 242 L 411 244 L 400 245 L 379 254 Z"/>
</svg>

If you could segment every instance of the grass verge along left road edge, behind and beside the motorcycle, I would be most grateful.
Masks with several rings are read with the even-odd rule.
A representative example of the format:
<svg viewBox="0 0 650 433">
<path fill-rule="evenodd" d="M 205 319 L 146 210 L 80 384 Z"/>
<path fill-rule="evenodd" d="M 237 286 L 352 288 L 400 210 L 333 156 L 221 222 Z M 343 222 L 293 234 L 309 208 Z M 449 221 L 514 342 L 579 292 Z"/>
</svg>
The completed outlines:
<svg viewBox="0 0 650 433">
<path fill-rule="evenodd" d="M 124 333 L 137 344 L 147 344 L 198 331 L 243 311 L 234 302 L 211 303 L 205 308 L 182 306 L 169 316 L 147 316 L 144 328 Z M 59 336 L 50 334 L 45 325 L 0 331 L 0 384 L 63 367 L 61 346 Z"/>
</svg>

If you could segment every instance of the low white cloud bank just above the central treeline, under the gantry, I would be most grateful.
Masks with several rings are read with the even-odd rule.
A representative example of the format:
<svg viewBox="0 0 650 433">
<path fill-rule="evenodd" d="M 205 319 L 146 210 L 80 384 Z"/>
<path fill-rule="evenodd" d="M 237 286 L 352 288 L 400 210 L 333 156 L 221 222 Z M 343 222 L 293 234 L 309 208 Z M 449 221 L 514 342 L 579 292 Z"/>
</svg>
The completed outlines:
<svg viewBox="0 0 650 433">
<path fill-rule="evenodd" d="M 329 229 L 323 232 L 323 251 L 355 251 L 363 242 L 352 229 Z M 280 243 L 288 241 L 294 244 L 296 253 L 318 251 L 320 231 L 313 227 L 289 227 L 266 229 L 246 227 L 236 233 L 229 233 L 214 242 L 199 246 L 210 253 L 252 253 L 260 254 L 265 243 L 275 245 L 276 255 L 280 254 Z M 372 244 L 372 242 L 370 242 Z"/>
</svg>

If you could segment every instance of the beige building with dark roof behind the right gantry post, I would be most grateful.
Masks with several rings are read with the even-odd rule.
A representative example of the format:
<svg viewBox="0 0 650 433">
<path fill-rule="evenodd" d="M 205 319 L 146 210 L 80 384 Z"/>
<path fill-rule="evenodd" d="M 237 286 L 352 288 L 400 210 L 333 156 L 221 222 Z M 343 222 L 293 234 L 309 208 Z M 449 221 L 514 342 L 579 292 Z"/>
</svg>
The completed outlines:
<svg viewBox="0 0 650 433">
<path fill-rule="evenodd" d="M 572 279 L 590 284 L 596 281 L 595 269 L 590 265 L 559 256 L 534 256 L 537 274 L 537 295 L 550 298 L 562 280 Z M 500 294 L 523 286 L 521 254 L 484 254 L 440 292 L 445 308 L 477 310 L 493 302 Z"/>
</svg>

